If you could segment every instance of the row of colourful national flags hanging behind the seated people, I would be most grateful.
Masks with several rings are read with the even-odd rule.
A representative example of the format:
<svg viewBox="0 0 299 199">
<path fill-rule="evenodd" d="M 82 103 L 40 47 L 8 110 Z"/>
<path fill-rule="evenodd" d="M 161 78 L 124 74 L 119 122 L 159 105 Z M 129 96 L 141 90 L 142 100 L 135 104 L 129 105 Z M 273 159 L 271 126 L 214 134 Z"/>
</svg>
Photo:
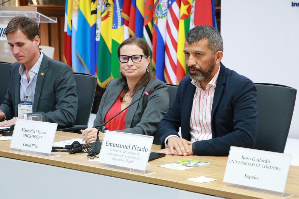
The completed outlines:
<svg viewBox="0 0 299 199">
<path fill-rule="evenodd" d="M 64 61 L 105 88 L 120 77 L 120 43 L 140 37 L 149 44 L 153 74 L 178 84 L 187 74 L 185 36 L 202 24 L 217 29 L 214 0 L 66 0 Z"/>
</svg>

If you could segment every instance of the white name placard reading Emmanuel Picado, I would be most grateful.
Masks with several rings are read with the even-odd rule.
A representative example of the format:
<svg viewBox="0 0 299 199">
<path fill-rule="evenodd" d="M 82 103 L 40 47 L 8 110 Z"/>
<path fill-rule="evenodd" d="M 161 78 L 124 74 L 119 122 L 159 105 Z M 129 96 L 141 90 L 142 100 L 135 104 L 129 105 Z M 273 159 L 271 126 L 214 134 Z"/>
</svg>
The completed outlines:
<svg viewBox="0 0 299 199">
<path fill-rule="evenodd" d="M 152 136 L 106 131 L 99 163 L 145 171 L 152 141 Z"/>
</svg>

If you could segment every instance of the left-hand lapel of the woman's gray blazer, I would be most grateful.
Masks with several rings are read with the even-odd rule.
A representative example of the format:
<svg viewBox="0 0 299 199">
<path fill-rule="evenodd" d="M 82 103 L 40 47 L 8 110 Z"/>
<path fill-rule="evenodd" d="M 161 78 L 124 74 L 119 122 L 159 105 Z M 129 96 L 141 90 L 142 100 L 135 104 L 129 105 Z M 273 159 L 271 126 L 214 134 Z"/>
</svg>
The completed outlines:
<svg viewBox="0 0 299 199">
<path fill-rule="evenodd" d="M 102 123 L 104 123 L 107 112 L 115 103 L 116 99 L 120 95 L 120 92 L 123 90 L 124 85 L 125 83 L 123 81 L 119 81 L 114 88 L 110 89 L 110 92 L 107 95 L 108 99 L 106 98 L 105 105 L 102 111 Z"/>
</svg>

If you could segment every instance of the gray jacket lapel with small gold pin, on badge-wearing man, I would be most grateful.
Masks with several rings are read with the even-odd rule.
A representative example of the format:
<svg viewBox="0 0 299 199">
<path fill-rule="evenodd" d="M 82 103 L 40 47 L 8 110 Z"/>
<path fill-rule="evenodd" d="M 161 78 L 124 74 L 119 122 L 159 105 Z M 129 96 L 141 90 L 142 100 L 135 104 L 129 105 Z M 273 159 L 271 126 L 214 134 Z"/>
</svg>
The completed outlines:
<svg viewBox="0 0 299 199">
<path fill-rule="evenodd" d="M 37 105 L 39 102 L 40 92 L 42 90 L 42 82 L 44 81 L 46 73 L 46 68 L 48 68 L 48 57 L 43 54 L 42 63 L 40 64 L 39 71 L 37 74 L 36 85 L 35 85 L 35 93 L 34 93 L 34 102 L 33 102 L 33 112 L 37 112 Z"/>
</svg>

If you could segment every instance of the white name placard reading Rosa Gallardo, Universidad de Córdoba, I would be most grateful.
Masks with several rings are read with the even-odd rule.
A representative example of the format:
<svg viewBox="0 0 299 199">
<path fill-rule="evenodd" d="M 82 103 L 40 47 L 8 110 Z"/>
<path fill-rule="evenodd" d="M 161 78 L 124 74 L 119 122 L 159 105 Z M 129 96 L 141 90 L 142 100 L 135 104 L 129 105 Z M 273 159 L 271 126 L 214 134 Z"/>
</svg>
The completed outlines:
<svg viewBox="0 0 299 199">
<path fill-rule="evenodd" d="M 231 146 L 223 182 L 284 192 L 292 155 Z"/>
</svg>

